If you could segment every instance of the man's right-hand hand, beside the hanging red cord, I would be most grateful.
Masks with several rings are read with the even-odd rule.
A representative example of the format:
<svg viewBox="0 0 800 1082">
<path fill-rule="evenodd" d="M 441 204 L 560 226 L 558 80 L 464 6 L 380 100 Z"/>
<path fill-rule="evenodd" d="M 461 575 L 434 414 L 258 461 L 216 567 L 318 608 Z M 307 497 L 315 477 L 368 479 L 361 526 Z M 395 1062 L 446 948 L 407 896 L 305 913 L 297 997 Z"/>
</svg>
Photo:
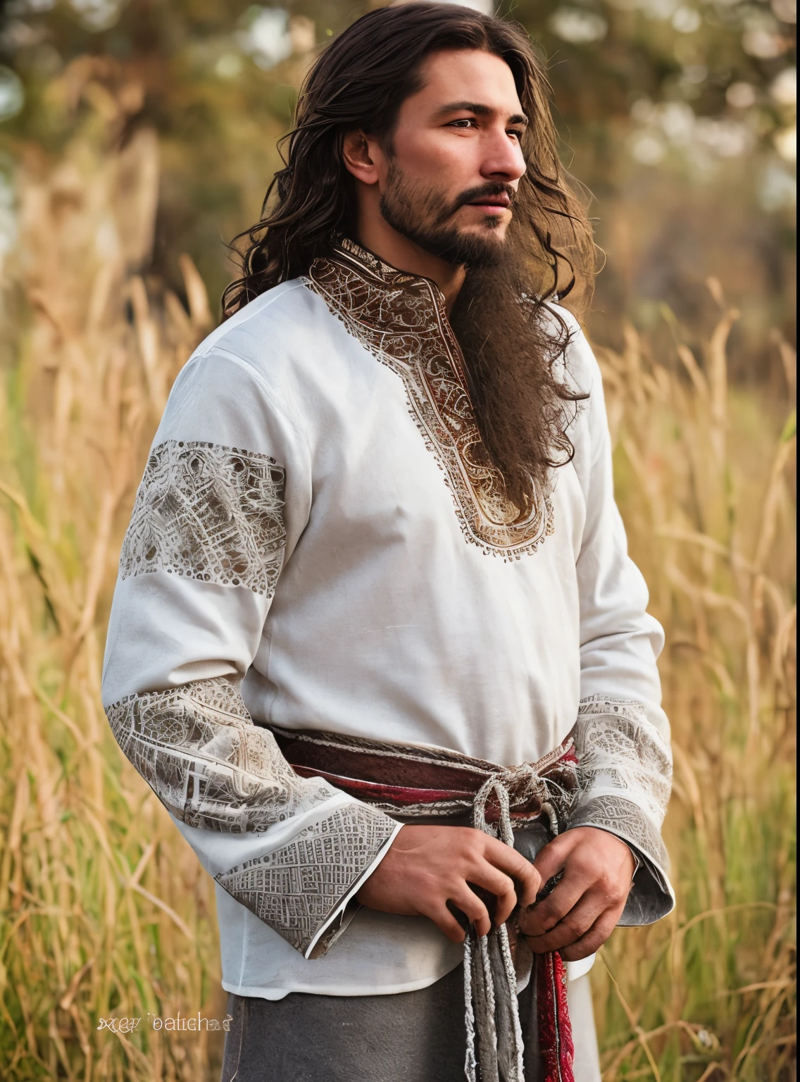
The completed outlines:
<svg viewBox="0 0 800 1082">
<path fill-rule="evenodd" d="M 539 850 L 533 867 L 556 888 L 520 911 L 520 931 L 535 954 L 561 951 L 577 962 L 602 947 L 619 920 L 636 861 L 625 842 L 599 827 L 576 827 Z"/>
</svg>

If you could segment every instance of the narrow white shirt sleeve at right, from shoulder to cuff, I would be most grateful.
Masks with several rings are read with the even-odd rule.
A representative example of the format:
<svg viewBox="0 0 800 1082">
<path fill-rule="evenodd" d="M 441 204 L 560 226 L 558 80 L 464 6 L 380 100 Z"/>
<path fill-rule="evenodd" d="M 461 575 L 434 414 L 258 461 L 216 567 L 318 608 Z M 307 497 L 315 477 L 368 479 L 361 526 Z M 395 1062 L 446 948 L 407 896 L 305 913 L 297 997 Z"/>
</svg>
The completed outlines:
<svg viewBox="0 0 800 1082">
<path fill-rule="evenodd" d="M 600 369 L 582 333 L 572 349 L 591 373 L 591 390 L 588 438 L 575 448 L 586 520 L 576 565 L 581 705 L 573 730 L 581 799 L 569 826 L 599 827 L 631 846 L 639 867 L 621 923 L 648 924 L 675 903 L 661 837 L 671 788 L 669 724 L 656 668 L 664 633 L 646 612 L 648 589 L 627 554 L 614 502 Z"/>
</svg>

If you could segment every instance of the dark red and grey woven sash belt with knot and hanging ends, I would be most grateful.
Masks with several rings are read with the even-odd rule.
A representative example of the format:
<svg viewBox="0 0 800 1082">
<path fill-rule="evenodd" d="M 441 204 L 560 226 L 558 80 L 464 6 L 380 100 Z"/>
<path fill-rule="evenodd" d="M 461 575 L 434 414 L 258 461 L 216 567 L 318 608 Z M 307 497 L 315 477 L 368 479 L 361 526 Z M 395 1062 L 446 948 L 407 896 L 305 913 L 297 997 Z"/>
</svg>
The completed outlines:
<svg viewBox="0 0 800 1082">
<path fill-rule="evenodd" d="M 270 726 L 294 770 L 401 819 L 471 813 L 478 830 L 514 846 L 514 828 L 541 821 L 554 836 L 577 789 L 572 741 L 537 763 L 504 767 L 457 752 L 385 743 L 334 733 Z M 552 884 L 550 884 L 551 886 Z M 516 914 L 464 944 L 469 1082 L 524 1082 L 515 954 Z M 558 952 L 534 958 L 539 1055 L 545 1082 L 574 1082 L 566 973 Z"/>
</svg>

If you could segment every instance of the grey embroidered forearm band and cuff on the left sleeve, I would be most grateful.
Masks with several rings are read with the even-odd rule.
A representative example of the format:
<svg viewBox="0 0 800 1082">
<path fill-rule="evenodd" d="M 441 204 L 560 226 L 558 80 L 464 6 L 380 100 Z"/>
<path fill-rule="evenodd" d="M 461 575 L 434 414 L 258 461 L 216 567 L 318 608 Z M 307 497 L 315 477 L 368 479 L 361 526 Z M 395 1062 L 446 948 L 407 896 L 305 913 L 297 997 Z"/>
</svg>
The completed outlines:
<svg viewBox="0 0 800 1082">
<path fill-rule="evenodd" d="M 223 677 L 128 696 L 106 713 L 128 758 L 189 827 L 265 831 L 337 792 L 296 775 Z M 397 830 L 374 808 L 339 806 L 282 847 L 216 879 L 297 950 L 322 953 L 345 927 L 332 921 Z"/>
</svg>

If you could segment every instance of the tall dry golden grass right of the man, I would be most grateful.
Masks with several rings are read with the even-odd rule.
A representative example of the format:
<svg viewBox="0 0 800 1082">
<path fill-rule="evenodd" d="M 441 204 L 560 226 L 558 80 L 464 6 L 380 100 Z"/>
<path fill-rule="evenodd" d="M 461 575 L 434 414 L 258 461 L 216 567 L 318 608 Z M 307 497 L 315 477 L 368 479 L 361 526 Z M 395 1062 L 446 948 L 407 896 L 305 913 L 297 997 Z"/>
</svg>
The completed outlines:
<svg viewBox="0 0 800 1082">
<path fill-rule="evenodd" d="M 676 338 L 668 371 L 632 328 L 622 354 L 598 351 L 617 496 L 667 634 L 678 894 L 595 967 L 606 1082 L 795 1078 L 796 420 L 728 387 L 737 313 L 708 288 L 703 368 Z M 794 352 L 774 345 L 794 388 Z"/>
</svg>

